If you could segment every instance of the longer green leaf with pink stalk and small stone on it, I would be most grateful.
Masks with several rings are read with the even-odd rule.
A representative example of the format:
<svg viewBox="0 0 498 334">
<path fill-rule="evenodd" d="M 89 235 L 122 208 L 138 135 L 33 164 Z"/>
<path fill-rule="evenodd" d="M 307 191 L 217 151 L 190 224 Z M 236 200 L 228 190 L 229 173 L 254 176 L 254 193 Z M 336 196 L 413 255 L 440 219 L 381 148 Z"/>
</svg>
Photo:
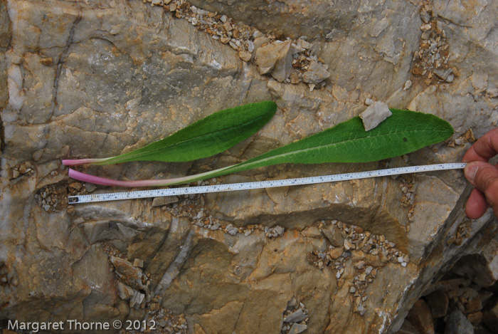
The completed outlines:
<svg viewBox="0 0 498 334">
<path fill-rule="evenodd" d="M 365 131 L 359 117 L 330 129 L 285 145 L 238 165 L 176 179 L 117 181 L 93 177 L 70 170 L 70 177 L 86 182 L 120 187 L 183 184 L 218 177 L 257 167 L 283 163 L 319 164 L 324 162 L 371 162 L 405 155 L 422 147 L 446 140 L 453 134 L 450 123 L 410 110 L 391 109 L 393 115 L 378 127 Z"/>
</svg>

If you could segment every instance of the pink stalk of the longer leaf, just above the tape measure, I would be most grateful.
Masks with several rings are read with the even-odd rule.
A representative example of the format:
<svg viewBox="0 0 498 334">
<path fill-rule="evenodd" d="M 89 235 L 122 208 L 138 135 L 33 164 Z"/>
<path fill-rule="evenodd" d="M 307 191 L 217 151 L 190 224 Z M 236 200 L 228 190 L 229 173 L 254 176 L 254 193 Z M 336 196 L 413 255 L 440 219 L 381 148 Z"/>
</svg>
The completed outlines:
<svg viewBox="0 0 498 334">
<path fill-rule="evenodd" d="M 105 177 L 96 177 L 94 175 L 78 172 L 74 169 L 69 169 L 69 177 L 78 179 L 79 181 L 89 182 L 93 184 L 102 184 L 104 186 L 115 187 L 151 187 L 151 186 L 166 186 L 169 184 L 178 184 L 188 182 L 189 177 L 176 177 L 174 179 L 143 179 L 136 181 L 120 181 L 117 179 L 106 179 Z"/>
</svg>

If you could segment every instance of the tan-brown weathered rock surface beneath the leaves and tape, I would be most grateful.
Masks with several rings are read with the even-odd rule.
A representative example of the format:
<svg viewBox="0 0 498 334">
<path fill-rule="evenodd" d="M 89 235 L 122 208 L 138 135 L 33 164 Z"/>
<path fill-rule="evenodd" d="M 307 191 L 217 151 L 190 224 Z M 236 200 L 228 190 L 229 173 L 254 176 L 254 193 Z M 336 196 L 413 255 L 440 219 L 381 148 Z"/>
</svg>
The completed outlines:
<svg viewBox="0 0 498 334">
<path fill-rule="evenodd" d="M 465 216 L 461 171 L 68 206 L 68 194 L 90 190 L 68 179 L 61 158 L 118 155 L 243 103 L 275 100 L 277 114 L 221 155 L 81 169 L 122 179 L 203 172 L 348 120 L 367 99 L 438 115 L 455 136 L 389 162 L 279 165 L 206 183 L 456 162 L 469 130 L 480 137 L 498 125 L 492 1 L 152 3 L 0 1 L 2 324 L 137 319 L 166 333 L 389 333 L 420 296 L 442 288 L 432 282 L 497 234 L 491 212 Z M 187 7 L 189 17 L 180 14 Z M 222 36 L 198 28 L 209 11 Z M 243 50 L 235 21 L 254 31 Z M 292 56 L 277 80 L 240 56 L 276 36 Z M 309 59 L 294 58 L 301 49 Z M 300 83 L 300 66 L 312 61 L 321 74 Z M 450 82 L 432 74 L 448 68 Z M 465 298 L 467 318 L 484 307 L 469 287 L 448 295 Z M 296 312 L 300 322 L 285 323 Z"/>
</svg>

